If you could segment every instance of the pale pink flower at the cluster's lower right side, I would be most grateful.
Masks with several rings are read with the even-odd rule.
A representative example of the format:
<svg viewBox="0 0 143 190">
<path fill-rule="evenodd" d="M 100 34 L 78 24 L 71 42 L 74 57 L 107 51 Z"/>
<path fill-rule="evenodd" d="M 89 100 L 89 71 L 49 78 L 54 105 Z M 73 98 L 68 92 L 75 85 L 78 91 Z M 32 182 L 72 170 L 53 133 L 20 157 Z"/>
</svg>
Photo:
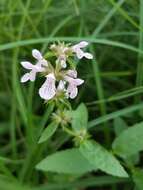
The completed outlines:
<svg viewBox="0 0 143 190">
<path fill-rule="evenodd" d="M 84 80 L 76 78 L 77 72 L 75 70 L 69 70 L 68 75 L 64 78 L 68 82 L 67 94 L 71 99 L 74 99 L 78 94 L 77 86 L 80 86 L 84 83 Z"/>
</svg>

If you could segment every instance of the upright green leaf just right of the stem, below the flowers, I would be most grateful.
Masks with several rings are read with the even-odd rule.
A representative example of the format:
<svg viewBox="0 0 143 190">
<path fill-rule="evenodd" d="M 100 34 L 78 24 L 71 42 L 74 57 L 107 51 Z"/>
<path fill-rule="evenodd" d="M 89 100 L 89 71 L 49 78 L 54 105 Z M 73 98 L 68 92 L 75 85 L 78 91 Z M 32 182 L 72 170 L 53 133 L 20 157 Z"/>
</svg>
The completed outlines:
<svg viewBox="0 0 143 190">
<path fill-rule="evenodd" d="M 88 112 L 86 106 L 82 103 L 75 111 L 71 112 L 72 128 L 75 131 L 87 129 Z"/>
</svg>

